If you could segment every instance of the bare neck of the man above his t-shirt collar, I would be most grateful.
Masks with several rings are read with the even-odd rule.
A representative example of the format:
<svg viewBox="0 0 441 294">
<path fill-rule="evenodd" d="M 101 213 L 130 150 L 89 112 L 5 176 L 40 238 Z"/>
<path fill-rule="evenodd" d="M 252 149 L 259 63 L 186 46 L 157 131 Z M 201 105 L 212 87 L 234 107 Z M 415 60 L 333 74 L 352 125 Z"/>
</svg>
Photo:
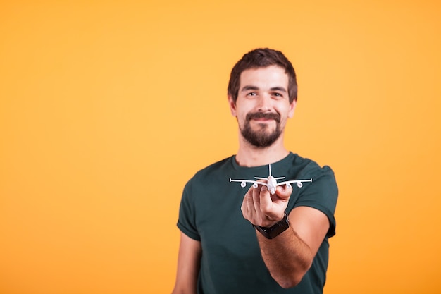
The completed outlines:
<svg viewBox="0 0 441 294">
<path fill-rule="evenodd" d="M 255 147 L 240 137 L 236 161 L 240 166 L 264 166 L 280 161 L 288 154 L 290 152 L 283 145 L 282 136 L 273 145 L 264 148 Z"/>
</svg>

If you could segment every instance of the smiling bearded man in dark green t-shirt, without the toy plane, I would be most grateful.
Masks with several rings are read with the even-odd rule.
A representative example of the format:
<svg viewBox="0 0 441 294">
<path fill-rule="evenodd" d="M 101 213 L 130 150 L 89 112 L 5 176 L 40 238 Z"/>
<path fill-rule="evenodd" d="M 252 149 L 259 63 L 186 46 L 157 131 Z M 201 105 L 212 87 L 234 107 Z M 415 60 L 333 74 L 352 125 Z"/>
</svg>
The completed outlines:
<svg viewBox="0 0 441 294">
<path fill-rule="evenodd" d="M 239 149 L 185 185 L 173 294 L 323 293 L 337 184 L 330 167 L 285 148 L 297 104 L 292 64 L 273 49 L 245 54 L 232 68 L 228 104 Z M 275 176 L 313 181 L 271 195 L 265 185 L 244 193 L 228 180 L 265 176 L 268 164 Z"/>
</svg>

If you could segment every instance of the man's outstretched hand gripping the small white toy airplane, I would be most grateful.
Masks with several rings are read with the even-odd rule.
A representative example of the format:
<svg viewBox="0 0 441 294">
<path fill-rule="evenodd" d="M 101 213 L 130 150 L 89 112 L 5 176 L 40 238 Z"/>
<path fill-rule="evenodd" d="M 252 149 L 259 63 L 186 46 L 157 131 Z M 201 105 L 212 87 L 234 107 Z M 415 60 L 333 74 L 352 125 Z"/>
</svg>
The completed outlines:
<svg viewBox="0 0 441 294">
<path fill-rule="evenodd" d="M 291 185 L 280 185 L 271 195 L 266 185 L 251 186 L 242 202 L 242 214 L 256 226 L 273 226 L 285 214 L 292 193 Z"/>
</svg>

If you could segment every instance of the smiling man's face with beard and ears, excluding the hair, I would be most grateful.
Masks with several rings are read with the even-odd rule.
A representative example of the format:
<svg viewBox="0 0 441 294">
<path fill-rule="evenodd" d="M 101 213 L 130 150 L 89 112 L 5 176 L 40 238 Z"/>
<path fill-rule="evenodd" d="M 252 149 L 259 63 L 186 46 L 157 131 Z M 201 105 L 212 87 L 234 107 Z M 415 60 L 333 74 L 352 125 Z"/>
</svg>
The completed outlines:
<svg viewBox="0 0 441 294">
<path fill-rule="evenodd" d="M 243 71 L 236 103 L 228 99 L 242 137 L 255 147 L 268 147 L 278 140 L 296 104 L 290 104 L 288 75 L 279 66 Z"/>
</svg>

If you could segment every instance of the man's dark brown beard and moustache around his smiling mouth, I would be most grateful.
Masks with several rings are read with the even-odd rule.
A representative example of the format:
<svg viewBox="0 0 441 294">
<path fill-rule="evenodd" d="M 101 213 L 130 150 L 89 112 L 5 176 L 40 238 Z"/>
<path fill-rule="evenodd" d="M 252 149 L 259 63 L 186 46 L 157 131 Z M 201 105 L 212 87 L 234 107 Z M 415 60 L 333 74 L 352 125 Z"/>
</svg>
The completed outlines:
<svg viewBox="0 0 441 294">
<path fill-rule="evenodd" d="M 268 125 L 266 123 L 260 123 L 259 130 L 252 130 L 250 121 L 253 118 L 273 119 L 275 121 L 275 129 L 268 133 Z M 280 129 L 280 115 L 273 112 L 267 114 L 262 112 L 247 114 L 244 128 L 240 128 L 240 133 L 242 133 L 245 140 L 254 147 L 264 148 L 271 146 L 282 134 L 282 130 Z"/>
</svg>

